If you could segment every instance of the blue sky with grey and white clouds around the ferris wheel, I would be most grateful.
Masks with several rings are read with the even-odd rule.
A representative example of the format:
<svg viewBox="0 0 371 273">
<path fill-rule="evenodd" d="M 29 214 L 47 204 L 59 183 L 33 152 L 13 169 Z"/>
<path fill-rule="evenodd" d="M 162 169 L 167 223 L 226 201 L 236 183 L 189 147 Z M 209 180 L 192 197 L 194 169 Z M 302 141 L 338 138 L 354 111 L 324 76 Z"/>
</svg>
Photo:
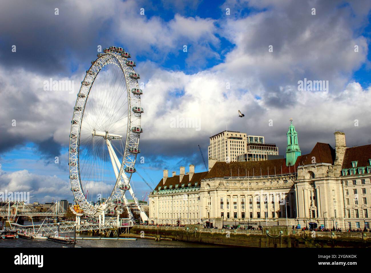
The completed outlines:
<svg viewBox="0 0 371 273">
<path fill-rule="evenodd" d="M 136 167 L 152 186 L 143 169 L 155 183 L 162 169 L 204 171 L 197 145 L 207 157 L 209 137 L 226 127 L 265 136 L 281 155 L 290 117 L 302 154 L 316 142 L 334 146 L 335 129 L 348 147 L 370 144 L 370 9 L 368 0 L 4 2 L 0 191 L 72 201 L 70 121 L 99 46 L 122 46 L 137 62 L 145 162 Z M 74 81 L 74 90 L 45 91 L 50 78 Z M 304 79 L 328 90 L 298 90 Z M 174 128 L 174 117 L 199 127 Z M 139 198 L 150 191 L 137 175 L 132 183 Z"/>
</svg>

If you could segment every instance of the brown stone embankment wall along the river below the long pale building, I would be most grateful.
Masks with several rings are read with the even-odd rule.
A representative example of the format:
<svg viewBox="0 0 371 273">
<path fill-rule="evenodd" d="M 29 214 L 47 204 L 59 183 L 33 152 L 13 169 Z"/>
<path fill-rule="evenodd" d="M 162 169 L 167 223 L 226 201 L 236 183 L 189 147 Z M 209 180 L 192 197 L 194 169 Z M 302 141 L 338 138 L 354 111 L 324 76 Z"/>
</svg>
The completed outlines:
<svg viewBox="0 0 371 273">
<path fill-rule="evenodd" d="M 347 233 L 292 230 L 286 226 L 263 230 L 227 230 L 186 227 L 156 227 L 137 225 L 131 234 L 145 237 L 170 238 L 195 243 L 220 244 L 239 247 L 371 247 L 371 233 Z"/>
</svg>

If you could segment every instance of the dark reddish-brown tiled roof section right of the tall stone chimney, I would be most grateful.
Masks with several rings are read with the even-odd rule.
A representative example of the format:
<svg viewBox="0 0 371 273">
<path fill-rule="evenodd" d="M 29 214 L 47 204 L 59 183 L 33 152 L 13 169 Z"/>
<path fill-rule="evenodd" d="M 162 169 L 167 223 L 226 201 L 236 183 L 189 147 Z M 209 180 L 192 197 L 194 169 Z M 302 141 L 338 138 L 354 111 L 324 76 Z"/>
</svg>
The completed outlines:
<svg viewBox="0 0 371 273">
<path fill-rule="evenodd" d="M 369 159 L 371 159 L 371 144 L 347 148 L 345 150 L 342 168 L 352 168 L 352 161 L 358 161 L 357 168 L 370 166 Z"/>
</svg>

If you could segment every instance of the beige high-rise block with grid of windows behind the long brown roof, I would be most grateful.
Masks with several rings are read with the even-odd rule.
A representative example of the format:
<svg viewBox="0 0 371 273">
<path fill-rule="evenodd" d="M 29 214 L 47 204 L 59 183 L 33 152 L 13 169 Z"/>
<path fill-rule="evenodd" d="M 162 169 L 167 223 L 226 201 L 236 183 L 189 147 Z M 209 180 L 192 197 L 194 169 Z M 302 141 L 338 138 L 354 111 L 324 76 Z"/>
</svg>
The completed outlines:
<svg viewBox="0 0 371 273">
<path fill-rule="evenodd" d="M 217 161 L 234 162 L 237 156 L 246 153 L 246 133 L 222 131 L 210 137 L 209 158 Z"/>
</svg>

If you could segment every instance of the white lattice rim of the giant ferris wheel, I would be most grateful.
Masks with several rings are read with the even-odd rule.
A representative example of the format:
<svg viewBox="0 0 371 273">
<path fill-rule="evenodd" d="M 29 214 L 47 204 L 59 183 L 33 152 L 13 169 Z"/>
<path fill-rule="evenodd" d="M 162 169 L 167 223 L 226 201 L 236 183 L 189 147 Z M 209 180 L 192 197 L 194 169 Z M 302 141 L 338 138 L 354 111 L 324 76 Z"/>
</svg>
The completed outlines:
<svg viewBox="0 0 371 273">
<path fill-rule="evenodd" d="M 127 92 L 127 106 L 128 106 L 128 123 L 127 123 L 127 136 L 125 141 L 124 147 L 124 155 L 122 157 L 121 166 L 119 170 L 119 176 L 115 181 L 114 188 L 112 189 L 111 194 L 109 195 L 107 201 L 105 202 L 105 207 L 112 209 L 115 207 L 113 197 L 122 196 L 125 194 L 125 190 L 122 191 L 119 189 L 119 182 L 122 182 L 123 178 L 126 177 L 126 184 L 129 185 L 131 180 L 132 173 L 128 173 L 128 175 L 124 175 L 124 168 L 134 168 L 135 161 L 137 158 L 137 154 L 129 153 L 129 148 L 134 147 L 138 149 L 139 146 L 139 137 L 140 133 L 132 132 L 131 128 L 132 125 L 138 126 L 141 128 L 141 113 L 134 113 L 133 106 L 139 107 L 141 106 L 140 94 L 132 94 L 131 89 L 137 88 L 139 89 L 137 78 L 130 77 L 131 74 L 137 75 L 134 71 L 132 66 L 126 65 L 127 58 L 122 57 L 122 55 L 116 52 L 106 52 L 104 54 L 99 54 L 98 58 L 92 62 L 91 67 L 85 74 L 85 77 L 82 81 L 80 90 L 78 92 L 78 98 L 76 99 L 75 107 L 73 110 L 73 116 L 71 121 L 71 129 L 70 129 L 70 142 L 69 142 L 69 171 L 70 171 L 70 182 L 71 182 L 71 190 L 75 197 L 76 203 L 83 209 L 84 213 L 87 215 L 95 215 L 99 208 L 96 206 L 91 205 L 86 196 L 84 195 L 84 189 L 82 186 L 82 179 L 81 179 L 81 170 L 80 170 L 80 162 L 79 162 L 79 149 L 80 149 L 80 138 L 81 138 L 81 126 L 83 121 L 83 116 L 85 113 L 86 103 L 88 101 L 91 88 L 95 82 L 96 77 L 98 76 L 99 72 L 102 68 L 109 64 L 114 64 L 118 66 L 121 70 L 124 79 L 125 79 L 125 86 Z M 90 73 L 89 73 L 90 72 Z M 138 76 L 138 75 L 137 75 Z M 88 83 L 88 84 L 86 84 Z M 83 95 L 83 96 L 82 96 Z M 79 98 L 82 100 L 79 101 Z M 81 107 L 81 108 L 79 108 Z M 142 109 L 142 108 L 141 108 Z M 76 118 L 78 117 L 78 118 Z M 136 122 L 132 124 L 132 117 L 135 117 Z M 74 122 L 77 122 L 76 124 Z M 137 127 L 136 127 L 137 128 Z M 75 149 L 75 150 L 74 150 Z M 125 180 L 125 179 L 124 179 Z"/>
</svg>

